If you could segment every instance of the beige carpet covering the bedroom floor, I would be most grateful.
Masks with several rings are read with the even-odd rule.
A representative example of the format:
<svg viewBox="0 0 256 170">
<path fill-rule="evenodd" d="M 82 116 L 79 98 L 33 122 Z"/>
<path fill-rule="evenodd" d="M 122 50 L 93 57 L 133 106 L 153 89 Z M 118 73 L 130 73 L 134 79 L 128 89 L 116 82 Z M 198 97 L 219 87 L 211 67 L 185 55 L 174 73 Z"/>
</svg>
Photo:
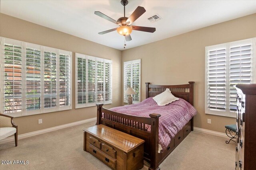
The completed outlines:
<svg viewBox="0 0 256 170">
<path fill-rule="evenodd" d="M 25 165 L 2 165 L 1 170 L 105 170 L 104 163 L 83 150 L 85 123 L 0 145 L 0 160 L 28 160 Z M 161 170 L 233 170 L 235 143 L 193 131 L 162 162 Z M 143 170 L 148 169 L 144 166 Z"/>
</svg>

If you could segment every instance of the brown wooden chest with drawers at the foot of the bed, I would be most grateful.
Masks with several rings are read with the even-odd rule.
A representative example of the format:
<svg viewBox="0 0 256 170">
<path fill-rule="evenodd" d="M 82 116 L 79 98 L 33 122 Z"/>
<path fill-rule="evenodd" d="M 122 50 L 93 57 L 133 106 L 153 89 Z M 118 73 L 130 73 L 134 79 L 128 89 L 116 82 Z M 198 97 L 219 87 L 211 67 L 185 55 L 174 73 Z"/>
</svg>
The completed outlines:
<svg viewBox="0 0 256 170">
<path fill-rule="evenodd" d="M 144 142 L 105 125 L 84 129 L 84 150 L 114 170 L 143 168 Z"/>
</svg>

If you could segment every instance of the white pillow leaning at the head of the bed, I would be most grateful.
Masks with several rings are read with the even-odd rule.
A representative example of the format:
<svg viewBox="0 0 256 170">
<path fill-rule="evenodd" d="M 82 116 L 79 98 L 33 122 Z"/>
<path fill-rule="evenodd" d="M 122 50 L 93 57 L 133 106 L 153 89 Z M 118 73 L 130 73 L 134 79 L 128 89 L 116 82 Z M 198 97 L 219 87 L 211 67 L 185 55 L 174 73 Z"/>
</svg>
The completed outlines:
<svg viewBox="0 0 256 170">
<path fill-rule="evenodd" d="M 153 97 L 153 100 L 156 101 L 158 106 L 165 106 L 166 104 L 179 100 L 179 98 L 173 96 L 170 89 L 166 88 L 164 92 Z"/>
</svg>

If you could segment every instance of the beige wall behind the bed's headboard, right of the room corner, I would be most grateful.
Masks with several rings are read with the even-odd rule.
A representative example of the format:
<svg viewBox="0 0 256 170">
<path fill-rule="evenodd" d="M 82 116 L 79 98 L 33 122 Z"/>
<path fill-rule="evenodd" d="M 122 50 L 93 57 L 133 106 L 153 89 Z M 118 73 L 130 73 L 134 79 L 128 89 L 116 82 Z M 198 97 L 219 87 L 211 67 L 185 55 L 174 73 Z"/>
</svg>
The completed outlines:
<svg viewBox="0 0 256 170">
<path fill-rule="evenodd" d="M 122 51 L 122 63 L 142 59 L 142 100 L 145 82 L 168 85 L 194 81 L 194 106 L 198 111 L 194 126 L 224 133 L 224 125 L 236 120 L 204 111 L 205 47 L 252 37 L 256 37 L 256 14 L 127 49 Z M 207 124 L 207 119 L 212 119 L 212 124 Z"/>
</svg>

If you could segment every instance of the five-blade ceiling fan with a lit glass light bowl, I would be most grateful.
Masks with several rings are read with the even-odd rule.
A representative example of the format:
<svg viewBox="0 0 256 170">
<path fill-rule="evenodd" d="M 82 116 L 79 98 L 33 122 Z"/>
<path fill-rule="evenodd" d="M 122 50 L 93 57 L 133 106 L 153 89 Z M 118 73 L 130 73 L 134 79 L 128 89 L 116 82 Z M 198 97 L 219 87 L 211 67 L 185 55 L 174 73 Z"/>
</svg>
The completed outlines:
<svg viewBox="0 0 256 170">
<path fill-rule="evenodd" d="M 132 23 L 135 20 L 137 20 L 142 14 L 144 14 L 144 12 L 146 12 L 145 8 L 143 8 L 142 6 L 138 6 L 136 10 L 134 10 L 132 15 L 129 18 L 127 18 L 125 17 L 125 6 L 128 4 L 128 0 L 121 0 L 121 4 L 124 6 L 124 17 L 119 18 L 117 21 L 110 18 L 109 16 L 106 16 L 105 14 L 99 11 L 94 12 L 94 14 L 96 14 L 97 16 L 100 16 L 108 21 L 111 21 L 119 25 L 119 27 L 117 28 L 109 29 L 107 31 L 100 32 L 99 34 L 105 34 L 105 33 L 109 33 L 117 30 L 117 32 L 120 35 L 125 36 L 126 41 L 131 41 L 132 37 L 130 33 L 132 32 L 132 30 L 150 32 L 150 33 L 153 33 L 154 31 L 156 31 L 156 28 L 153 28 L 153 27 L 141 27 L 141 26 L 132 25 Z"/>
</svg>

